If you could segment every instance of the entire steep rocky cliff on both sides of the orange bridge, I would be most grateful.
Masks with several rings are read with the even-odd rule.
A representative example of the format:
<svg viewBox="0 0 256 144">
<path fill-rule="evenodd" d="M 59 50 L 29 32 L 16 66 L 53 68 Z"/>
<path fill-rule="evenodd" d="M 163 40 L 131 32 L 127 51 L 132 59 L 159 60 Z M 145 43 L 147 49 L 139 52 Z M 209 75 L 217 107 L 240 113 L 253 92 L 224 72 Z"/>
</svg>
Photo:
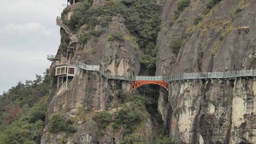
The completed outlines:
<svg viewBox="0 0 256 144">
<path fill-rule="evenodd" d="M 100 11 L 101 15 L 87 20 L 92 22 L 91 19 L 95 18 L 96 22 L 105 22 L 108 19 L 109 23 L 107 26 L 102 26 L 102 23 L 93 26 L 94 23 L 85 22 L 81 27 L 73 27 L 79 43 L 68 54 L 68 59 L 100 64 L 106 72 L 120 76 L 152 73 L 152 68 L 147 72 L 148 69 L 143 64 L 155 62 L 152 52 L 155 52 L 155 48 L 152 48 L 155 44 L 147 31 L 154 31 L 154 18 L 146 20 L 145 27 L 149 28 L 141 33 L 136 31 L 138 27 L 129 27 L 136 29 L 131 34 L 126 25 L 126 16 L 122 16 L 120 12 L 127 12 L 127 9 L 122 11 L 123 7 L 131 7 L 136 0 L 123 0 L 124 6 L 115 9 L 119 14 L 110 17 L 106 17 L 107 14 L 104 13 L 109 14 L 109 6 L 114 5 L 116 1 L 89 1 L 90 7 L 93 8 L 91 12 Z M 66 25 L 69 25 L 75 9 L 81 6 L 81 2 L 64 9 L 62 20 Z M 256 68 L 254 0 L 156 2 L 160 6 L 159 16 L 163 23 L 156 40 L 158 52 L 155 75 Z M 88 5 L 85 5 L 86 9 L 83 10 L 89 9 Z M 106 6 L 106 9 L 97 9 L 102 6 Z M 146 11 L 142 10 L 142 13 Z M 138 18 L 132 17 L 129 20 L 136 22 L 140 20 Z M 61 36 L 62 43 L 57 54 L 65 55 L 71 40 L 63 28 Z M 142 38 L 146 40 L 141 41 Z M 151 42 L 150 45 L 146 44 L 148 41 Z M 143 47 L 146 50 L 142 50 L 141 45 L 146 45 Z M 143 59 L 142 64 L 141 59 L 145 55 L 149 58 Z M 73 79 L 69 79 L 68 88 L 61 86 L 60 90 L 56 91 L 53 85 L 52 89 L 42 144 L 132 144 L 135 140 L 141 144 L 154 144 L 161 127 L 161 122 L 157 122 L 153 117 L 157 114 L 151 113 L 155 109 L 161 114 L 168 130 L 167 135 L 177 144 L 256 143 L 256 83 L 253 78 L 180 81 L 169 83 L 168 92 L 160 89 L 159 94 L 155 89 L 146 87 L 146 90 L 132 93 L 132 99 L 135 100 L 129 101 L 127 99 L 131 96 L 125 91 L 130 90 L 130 83 L 107 80 L 97 72 L 80 70 Z M 156 89 L 158 91 L 158 88 Z M 158 106 L 152 108 L 152 99 L 137 97 L 139 94 L 155 97 Z M 145 108 L 142 101 L 147 101 L 150 107 Z M 129 125 L 120 122 L 120 111 L 126 108 L 129 109 L 128 113 L 124 113 L 133 117 L 128 121 L 134 121 L 132 125 L 137 127 L 135 130 L 129 127 L 130 123 L 127 121 L 123 120 Z M 102 121 L 99 122 L 99 114 L 104 114 L 102 112 L 111 115 L 109 120 L 104 117 L 104 122 L 108 122 L 107 126 L 101 126 Z M 49 123 L 56 114 L 61 114 L 66 123 L 73 121 L 72 125 L 76 127 L 76 131 L 52 133 Z M 128 131 L 130 128 L 132 130 Z"/>
</svg>

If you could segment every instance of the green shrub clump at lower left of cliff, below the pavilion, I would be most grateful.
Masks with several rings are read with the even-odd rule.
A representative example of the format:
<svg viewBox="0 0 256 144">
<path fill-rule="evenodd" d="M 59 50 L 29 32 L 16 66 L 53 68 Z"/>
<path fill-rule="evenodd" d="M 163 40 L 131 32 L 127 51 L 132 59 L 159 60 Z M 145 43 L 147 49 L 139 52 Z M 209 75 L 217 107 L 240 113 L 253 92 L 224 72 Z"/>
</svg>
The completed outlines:
<svg viewBox="0 0 256 144">
<path fill-rule="evenodd" d="M 64 118 L 61 115 L 54 115 L 49 121 L 49 131 L 51 133 L 59 133 L 66 129 Z"/>
</svg>

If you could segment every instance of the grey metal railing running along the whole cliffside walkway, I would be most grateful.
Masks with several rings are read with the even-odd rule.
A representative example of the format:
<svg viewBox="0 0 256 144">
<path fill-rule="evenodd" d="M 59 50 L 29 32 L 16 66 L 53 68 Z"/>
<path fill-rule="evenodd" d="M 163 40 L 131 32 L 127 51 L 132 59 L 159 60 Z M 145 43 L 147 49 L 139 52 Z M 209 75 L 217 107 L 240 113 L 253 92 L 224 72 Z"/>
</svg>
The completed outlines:
<svg viewBox="0 0 256 144">
<path fill-rule="evenodd" d="M 54 57 L 54 55 L 48 55 Z M 47 58 L 48 58 L 47 56 Z M 171 76 L 133 76 L 122 75 L 116 73 L 105 72 L 100 65 L 88 65 L 81 62 L 72 61 L 56 61 L 56 65 L 71 64 L 76 65 L 86 71 L 100 72 L 101 75 L 108 79 L 124 80 L 124 81 L 182 81 L 182 80 L 201 80 L 201 79 L 233 79 L 239 77 L 256 77 L 256 70 L 243 70 L 232 72 L 199 72 L 199 73 L 182 73 Z"/>
</svg>

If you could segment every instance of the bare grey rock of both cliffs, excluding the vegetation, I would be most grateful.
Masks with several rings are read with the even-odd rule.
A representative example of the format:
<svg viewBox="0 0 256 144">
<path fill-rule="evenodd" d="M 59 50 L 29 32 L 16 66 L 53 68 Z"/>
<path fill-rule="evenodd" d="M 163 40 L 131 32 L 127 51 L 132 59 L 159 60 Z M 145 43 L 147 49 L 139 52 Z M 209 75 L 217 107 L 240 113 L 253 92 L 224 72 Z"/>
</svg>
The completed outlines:
<svg viewBox="0 0 256 144">
<path fill-rule="evenodd" d="M 189 7 L 174 21 L 178 1 L 157 0 L 163 25 L 157 38 L 156 75 L 256 68 L 254 0 L 221 0 L 209 13 L 206 13 L 208 0 L 191 0 Z M 93 6 L 104 3 L 105 0 L 94 0 Z M 235 14 L 238 7 L 243 9 Z M 70 18 L 72 11 L 73 7 L 64 10 L 64 21 Z M 199 15 L 204 18 L 196 25 L 194 20 Z M 83 27 L 77 32 L 78 38 L 88 33 Z M 95 30 L 100 28 L 97 26 Z M 125 42 L 106 40 L 117 31 L 124 34 Z M 67 37 L 63 30 L 61 36 Z M 183 42 L 177 54 L 170 48 L 175 38 Z M 60 53 L 63 53 L 61 48 Z M 100 64 L 106 71 L 119 75 L 140 72 L 136 40 L 119 16 L 112 18 L 105 34 L 89 40 L 86 45 L 77 45 L 70 59 Z M 46 125 L 42 144 L 55 144 L 63 139 L 66 139 L 66 144 L 114 144 L 113 138 L 115 144 L 119 144 L 124 135 L 114 133 L 111 128 L 98 141 L 99 129 L 92 117 L 99 111 L 116 111 L 113 106 L 119 102 L 118 90 L 129 89 L 129 83 L 107 81 L 99 73 L 81 70 L 69 81 L 67 89 L 62 87 L 55 92 L 48 104 L 46 118 L 58 113 L 65 119 L 78 117 L 78 131 L 68 136 L 64 133 L 49 134 Z M 252 78 L 170 83 L 168 93 L 160 90 L 158 111 L 169 136 L 178 144 L 255 144 L 255 90 L 256 83 Z M 151 144 L 154 124 L 148 118 L 144 125 L 147 142 Z"/>
</svg>

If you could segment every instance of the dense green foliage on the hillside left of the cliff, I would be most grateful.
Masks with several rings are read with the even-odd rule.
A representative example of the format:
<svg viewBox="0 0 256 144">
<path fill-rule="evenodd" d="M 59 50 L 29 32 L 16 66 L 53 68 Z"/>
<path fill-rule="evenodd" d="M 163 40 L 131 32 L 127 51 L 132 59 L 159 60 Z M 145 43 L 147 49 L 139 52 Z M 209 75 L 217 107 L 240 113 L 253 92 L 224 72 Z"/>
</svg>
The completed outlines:
<svg viewBox="0 0 256 144">
<path fill-rule="evenodd" d="M 0 144 L 40 144 L 50 81 L 47 70 L 0 96 Z"/>
</svg>

